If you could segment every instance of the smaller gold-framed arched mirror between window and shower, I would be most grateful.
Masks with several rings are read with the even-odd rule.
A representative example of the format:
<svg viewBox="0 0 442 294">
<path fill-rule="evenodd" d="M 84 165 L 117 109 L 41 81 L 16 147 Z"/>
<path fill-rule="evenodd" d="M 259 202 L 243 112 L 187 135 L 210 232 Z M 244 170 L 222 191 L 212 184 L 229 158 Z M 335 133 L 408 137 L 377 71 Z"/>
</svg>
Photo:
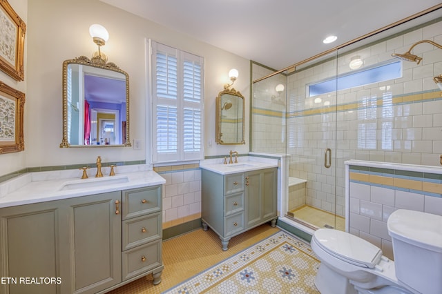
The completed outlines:
<svg viewBox="0 0 442 294">
<path fill-rule="evenodd" d="M 216 97 L 216 143 L 245 144 L 244 97 L 234 88 L 226 88 Z"/>
</svg>

